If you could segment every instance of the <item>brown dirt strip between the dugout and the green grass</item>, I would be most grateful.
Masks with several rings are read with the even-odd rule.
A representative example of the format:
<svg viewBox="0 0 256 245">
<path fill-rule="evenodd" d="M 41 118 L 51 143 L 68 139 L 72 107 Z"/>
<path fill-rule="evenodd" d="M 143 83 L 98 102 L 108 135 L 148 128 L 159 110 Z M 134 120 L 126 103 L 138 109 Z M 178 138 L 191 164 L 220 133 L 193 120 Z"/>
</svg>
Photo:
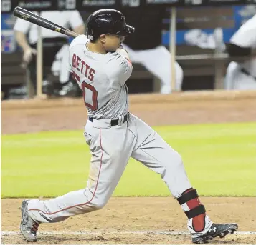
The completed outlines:
<svg viewBox="0 0 256 245">
<path fill-rule="evenodd" d="M 131 95 L 130 111 L 151 126 L 256 121 L 256 91 Z M 83 129 L 82 99 L 3 101 L 1 133 Z"/>
</svg>

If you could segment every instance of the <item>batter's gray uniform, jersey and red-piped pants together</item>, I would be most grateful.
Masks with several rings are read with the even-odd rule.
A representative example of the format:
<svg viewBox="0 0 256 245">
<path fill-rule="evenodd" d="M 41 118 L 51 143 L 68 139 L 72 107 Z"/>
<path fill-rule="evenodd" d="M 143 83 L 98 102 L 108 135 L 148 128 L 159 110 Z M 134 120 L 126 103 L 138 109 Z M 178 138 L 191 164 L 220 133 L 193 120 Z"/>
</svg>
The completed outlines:
<svg viewBox="0 0 256 245">
<path fill-rule="evenodd" d="M 70 71 L 83 91 L 88 114 L 93 117 L 87 120 L 84 134 L 92 155 L 87 186 L 47 201 L 30 200 L 29 215 L 34 221 L 63 221 L 103 208 L 130 157 L 161 174 L 174 197 L 191 188 L 181 156 L 150 126 L 128 113 L 125 81 L 131 75 L 130 61 L 116 52 L 88 51 L 87 41 L 85 36 L 78 36 L 70 44 Z M 118 119 L 118 124 L 113 124 L 113 119 Z M 199 234 L 211 225 L 207 216 Z M 188 228 L 195 234 L 192 219 Z"/>
</svg>

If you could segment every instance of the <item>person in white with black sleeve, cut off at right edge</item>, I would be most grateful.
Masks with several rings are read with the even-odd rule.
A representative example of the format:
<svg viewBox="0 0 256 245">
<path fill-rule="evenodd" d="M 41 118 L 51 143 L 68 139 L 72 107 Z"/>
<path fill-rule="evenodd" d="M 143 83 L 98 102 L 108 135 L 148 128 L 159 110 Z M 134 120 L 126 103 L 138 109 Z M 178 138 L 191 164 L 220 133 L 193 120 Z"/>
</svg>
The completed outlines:
<svg viewBox="0 0 256 245">
<path fill-rule="evenodd" d="M 256 89 L 256 14 L 238 29 L 227 44 L 229 56 L 250 56 L 246 61 L 230 62 L 225 79 L 226 89 Z"/>
</svg>

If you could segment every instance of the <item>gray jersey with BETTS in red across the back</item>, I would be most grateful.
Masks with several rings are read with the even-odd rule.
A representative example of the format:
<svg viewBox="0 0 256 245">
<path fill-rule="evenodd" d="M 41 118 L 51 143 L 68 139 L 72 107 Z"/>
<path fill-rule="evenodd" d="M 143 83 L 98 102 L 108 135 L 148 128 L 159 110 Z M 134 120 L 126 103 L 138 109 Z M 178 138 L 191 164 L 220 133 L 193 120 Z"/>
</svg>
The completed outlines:
<svg viewBox="0 0 256 245">
<path fill-rule="evenodd" d="M 77 36 L 70 44 L 69 64 L 73 79 L 82 89 L 88 116 L 116 119 L 128 113 L 125 81 L 133 66 L 117 52 L 98 54 L 87 49 L 87 36 Z"/>
</svg>

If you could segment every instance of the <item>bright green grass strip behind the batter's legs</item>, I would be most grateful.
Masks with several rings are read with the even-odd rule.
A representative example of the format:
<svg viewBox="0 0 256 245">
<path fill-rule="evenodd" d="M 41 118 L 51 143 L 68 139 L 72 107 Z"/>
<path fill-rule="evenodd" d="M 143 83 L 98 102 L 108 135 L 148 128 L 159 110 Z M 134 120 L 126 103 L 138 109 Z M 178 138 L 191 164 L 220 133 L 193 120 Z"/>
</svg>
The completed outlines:
<svg viewBox="0 0 256 245">
<path fill-rule="evenodd" d="M 204 196 L 256 196 L 256 123 L 155 127 Z M 85 188 L 82 131 L 1 136 L 1 197 L 59 196 Z M 115 196 L 168 196 L 161 177 L 131 159 Z"/>
</svg>

